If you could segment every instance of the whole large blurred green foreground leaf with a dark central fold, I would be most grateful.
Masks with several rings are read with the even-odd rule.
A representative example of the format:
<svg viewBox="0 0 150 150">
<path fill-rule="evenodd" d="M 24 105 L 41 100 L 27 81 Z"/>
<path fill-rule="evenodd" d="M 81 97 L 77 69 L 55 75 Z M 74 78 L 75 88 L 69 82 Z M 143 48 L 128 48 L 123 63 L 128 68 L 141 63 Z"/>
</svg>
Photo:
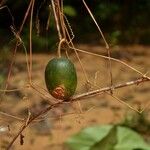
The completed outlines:
<svg viewBox="0 0 150 150">
<path fill-rule="evenodd" d="M 66 145 L 69 150 L 150 150 L 137 132 L 116 125 L 85 128 L 70 137 Z"/>
</svg>

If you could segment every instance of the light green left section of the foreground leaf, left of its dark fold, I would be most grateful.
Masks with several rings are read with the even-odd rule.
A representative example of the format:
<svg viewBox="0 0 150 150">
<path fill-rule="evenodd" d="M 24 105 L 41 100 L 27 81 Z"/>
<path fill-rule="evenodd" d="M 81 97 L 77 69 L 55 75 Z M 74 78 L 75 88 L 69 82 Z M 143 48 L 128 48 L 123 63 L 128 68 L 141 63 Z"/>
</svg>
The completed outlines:
<svg viewBox="0 0 150 150">
<path fill-rule="evenodd" d="M 111 129 L 110 125 L 85 128 L 68 139 L 66 144 L 69 150 L 90 150 L 95 143 L 107 136 Z"/>
</svg>

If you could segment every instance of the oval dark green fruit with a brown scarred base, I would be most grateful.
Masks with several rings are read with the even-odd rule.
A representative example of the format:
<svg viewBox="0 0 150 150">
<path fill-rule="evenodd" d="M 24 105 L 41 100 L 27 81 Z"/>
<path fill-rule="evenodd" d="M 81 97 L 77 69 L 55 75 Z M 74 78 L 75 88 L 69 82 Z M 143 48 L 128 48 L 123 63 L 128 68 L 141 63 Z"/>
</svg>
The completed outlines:
<svg viewBox="0 0 150 150">
<path fill-rule="evenodd" d="M 62 100 L 69 99 L 77 87 L 74 64 L 67 58 L 53 58 L 46 66 L 45 82 L 53 97 Z"/>
</svg>

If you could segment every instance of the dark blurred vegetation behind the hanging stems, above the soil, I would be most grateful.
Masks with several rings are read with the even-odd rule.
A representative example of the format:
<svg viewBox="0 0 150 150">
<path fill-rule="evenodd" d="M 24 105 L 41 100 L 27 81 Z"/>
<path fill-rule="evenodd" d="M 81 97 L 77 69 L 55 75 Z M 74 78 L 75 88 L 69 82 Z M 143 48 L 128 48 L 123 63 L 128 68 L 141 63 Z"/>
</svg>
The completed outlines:
<svg viewBox="0 0 150 150">
<path fill-rule="evenodd" d="M 150 1 L 149 0 L 86 0 L 99 23 L 108 43 L 117 44 L 150 44 Z M 8 6 L 14 16 L 16 30 L 22 23 L 29 1 L 4 0 L 1 6 Z M 58 42 L 50 0 L 35 0 L 33 50 L 45 52 L 53 49 Z M 99 44 L 100 35 L 86 11 L 81 0 L 64 0 L 64 12 L 75 34 L 75 42 Z M 46 30 L 50 14 L 49 29 Z M 38 17 L 37 17 L 38 16 Z M 39 19 L 39 31 L 36 29 Z M 0 45 L 9 47 L 14 41 L 10 30 L 12 18 L 6 8 L 0 10 Z M 22 32 L 26 45 L 29 41 L 29 18 Z"/>
</svg>

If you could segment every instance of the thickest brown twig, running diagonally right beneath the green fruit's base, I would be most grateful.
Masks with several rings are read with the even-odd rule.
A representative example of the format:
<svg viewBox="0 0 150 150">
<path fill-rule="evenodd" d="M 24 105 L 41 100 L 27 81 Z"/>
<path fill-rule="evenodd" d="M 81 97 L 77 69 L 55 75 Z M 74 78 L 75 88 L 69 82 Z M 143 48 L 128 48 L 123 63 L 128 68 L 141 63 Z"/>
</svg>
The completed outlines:
<svg viewBox="0 0 150 150">
<path fill-rule="evenodd" d="M 22 134 L 22 132 L 26 129 L 26 127 L 29 126 L 30 123 L 32 123 L 35 119 L 37 119 L 41 115 L 47 113 L 49 110 L 51 110 L 51 109 L 53 109 L 55 107 L 59 107 L 61 104 L 64 104 L 64 103 L 73 103 L 73 102 L 78 101 L 78 100 L 83 100 L 83 99 L 85 99 L 85 98 L 87 98 L 89 96 L 98 95 L 98 94 L 100 94 L 102 92 L 108 92 L 108 91 L 111 91 L 111 90 L 115 90 L 115 89 L 119 89 L 119 88 L 131 86 L 131 85 L 139 85 L 140 83 L 147 82 L 147 81 L 150 81 L 150 79 L 143 77 L 143 78 L 140 78 L 140 79 L 137 79 L 137 80 L 134 80 L 134 81 L 129 81 L 129 82 L 126 82 L 126 83 L 117 84 L 117 85 L 114 85 L 112 87 L 104 87 L 104 88 L 93 90 L 93 91 L 90 91 L 90 92 L 87 92 L 87 93 L 75 95 L 69 101 L 58 101 L 57 103 L 52 104 L 49 107 L 43 109 L 42 111 L 40 111 L 39 113 L 37 113 L 35 116 L 31 116 L 30 118 L 28 118 L 28 121 L 26 121 L 24 123 L 24 125 L 21 127 L 21 129 L 18 131 L 18 133 L 16 134 L 16 136 L 13 138 L 13 140 L 9 144 L 7 150 L 9 150 L 11 148 L 11 146 L 16 141 L 16 139 L 20 136 L 20 134 Z"/>
</svg>

